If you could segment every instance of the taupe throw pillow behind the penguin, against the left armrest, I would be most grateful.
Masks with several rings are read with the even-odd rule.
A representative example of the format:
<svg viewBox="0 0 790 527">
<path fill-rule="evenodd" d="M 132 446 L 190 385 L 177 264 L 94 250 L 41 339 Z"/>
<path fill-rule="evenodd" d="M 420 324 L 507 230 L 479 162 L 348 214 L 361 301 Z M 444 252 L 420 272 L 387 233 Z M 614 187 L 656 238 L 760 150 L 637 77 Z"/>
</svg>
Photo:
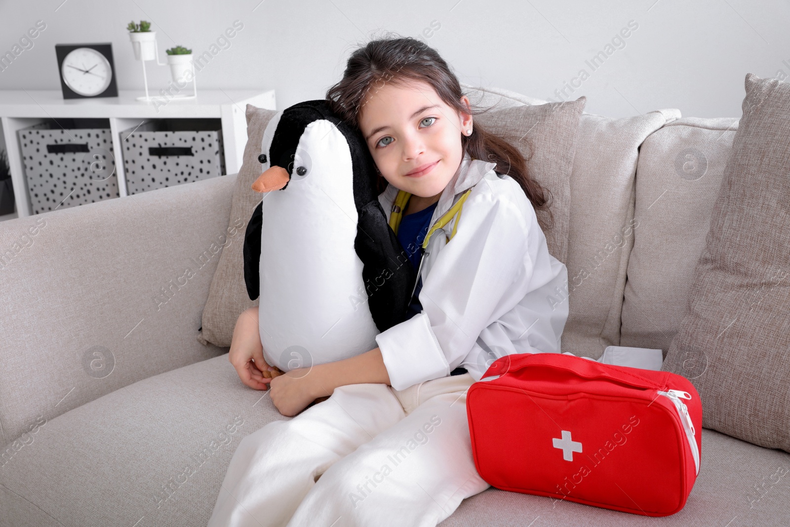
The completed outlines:
<svg viewBox="0 0 790 527">
<path fill-rule="evenodd" d="M 261 194 L 252 190 L 252 184 L 261 175 L 261 140 L 266 125 L 276 115 L 274 110 L 246 105 L 247 142 L 244 146 L 242 168 L 233 190 L 228 232 L 238 232 L 236 243 L 225 247 L 216 266 L 216 273 L 209 287 L 209 299 L 203 308 L 201 332 L 198 341 L 202 344 L 230 346 L 233 328 L 239 314 L 249 307 L 257 306 L 258 299 L 250 300 L 244 283 L 244 233 L 247 222 Z"/>
</svg>

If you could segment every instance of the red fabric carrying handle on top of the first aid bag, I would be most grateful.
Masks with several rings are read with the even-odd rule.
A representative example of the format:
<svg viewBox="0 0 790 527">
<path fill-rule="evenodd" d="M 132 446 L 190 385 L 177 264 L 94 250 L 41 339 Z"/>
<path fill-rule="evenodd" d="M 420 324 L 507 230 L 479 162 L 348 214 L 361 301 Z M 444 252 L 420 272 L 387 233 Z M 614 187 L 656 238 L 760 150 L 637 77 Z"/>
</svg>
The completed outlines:
<svg viewBox="0 0 790 527">
<path fill-rule="evenodd" d="M 518 353 L 515 356 L 502 356 L 491 363 L 491 366 L 488 367 L 480 379 L 482 380 L 491 375 L 515 374 L 517 371 L 522 371 L 526 368 L 546 366 L 569 371 L 582 378 L 608 379 L 638 388 L 663 388 L 658 382 L 636 375 L 624 367 L 615 366 L 614 364 L 601 364 L 580 356 L 570 356 L 562 353 Z"/>
</svg>

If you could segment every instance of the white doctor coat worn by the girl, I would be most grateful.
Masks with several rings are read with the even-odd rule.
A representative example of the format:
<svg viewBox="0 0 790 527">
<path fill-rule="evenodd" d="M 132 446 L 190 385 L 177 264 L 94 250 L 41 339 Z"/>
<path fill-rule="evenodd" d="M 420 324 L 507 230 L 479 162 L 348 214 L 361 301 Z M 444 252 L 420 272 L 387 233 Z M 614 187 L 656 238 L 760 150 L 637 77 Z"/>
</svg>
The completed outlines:
<svg viewBox="0 0 790 527">
<path fill-rule="evenodd" d="M 442 227 L 446 235 L 431 235 L 420 273 L 423 310 L 375 337 L 395 390 L 446 377 L 456 367 L 479 381 L 500 356 L 560 352 L 568 318 L 566 266 L 548 253 L 521 186 L 495 166 L 465 155 L 431 225 L 474 188 L 460 219 Z M 378 196 L 387 220 L 397 193 L 388 185 Z"/>
</svg>

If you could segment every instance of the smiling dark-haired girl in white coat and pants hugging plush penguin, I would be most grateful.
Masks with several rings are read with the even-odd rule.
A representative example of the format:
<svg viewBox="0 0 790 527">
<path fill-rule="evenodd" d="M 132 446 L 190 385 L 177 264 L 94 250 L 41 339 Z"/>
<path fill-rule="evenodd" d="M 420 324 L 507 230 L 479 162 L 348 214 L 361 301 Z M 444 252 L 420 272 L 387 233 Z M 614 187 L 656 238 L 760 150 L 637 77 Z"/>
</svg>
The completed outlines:
<svg viewBox="0 0 790 527">
<path fill-rule="evenodd" d="M 489 487 L 468 387 L 499 356 L 560 352 L 568 306 L 547 298 L 567 271 L 537 222 L 544 191 L 513 145 L 472 122 L 436 51 L 367 43 L 326 99 L 388 183 L 378 199 L 419 269 L 409 318 L 369 352 L 280 375 L 261 355 L 256 308 L 239 317 L 231 363 L 295 418 L 239 443 L 209 526 L 434 526 Z"/>
</svg>

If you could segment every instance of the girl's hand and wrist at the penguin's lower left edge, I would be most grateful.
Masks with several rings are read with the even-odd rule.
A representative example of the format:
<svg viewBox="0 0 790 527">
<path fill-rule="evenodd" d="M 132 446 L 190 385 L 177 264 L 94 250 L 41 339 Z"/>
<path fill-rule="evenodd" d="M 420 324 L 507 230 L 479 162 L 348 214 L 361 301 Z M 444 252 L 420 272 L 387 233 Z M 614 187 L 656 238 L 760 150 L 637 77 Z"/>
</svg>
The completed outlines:
<svg viewBox="0 0 790 527">
<path fill-rule="evenodd" d="M 242 382 L 254 390 L 267 390 L 272 378 L 283 374 L 263 358 L 263 345 L 258 331 L 258 307 L 250 307 L 239 315 L 233 329 L 228 360 Z"/>
</svg>

